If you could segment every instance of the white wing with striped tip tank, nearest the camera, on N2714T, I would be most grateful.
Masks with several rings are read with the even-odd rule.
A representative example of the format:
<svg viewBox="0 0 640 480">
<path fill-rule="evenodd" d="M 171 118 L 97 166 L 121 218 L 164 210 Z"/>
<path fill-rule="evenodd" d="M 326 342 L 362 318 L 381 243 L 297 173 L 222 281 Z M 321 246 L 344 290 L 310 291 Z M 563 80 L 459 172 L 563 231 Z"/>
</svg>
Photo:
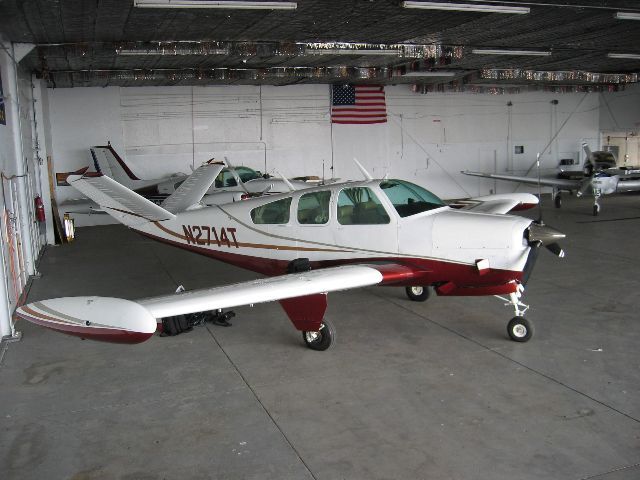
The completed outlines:
<svg viewBox="0 0 640 480">
<path fill-rule="evenodd" d="M 373 267 L 347 265 L 136 301 L 108 297 L 41 300 L 17 308 L 16 315 L 82 338 L 141 343 L 153 335 L 157 320 L 163 317 L 376 285 L 384 276 Z"/>
</svg>

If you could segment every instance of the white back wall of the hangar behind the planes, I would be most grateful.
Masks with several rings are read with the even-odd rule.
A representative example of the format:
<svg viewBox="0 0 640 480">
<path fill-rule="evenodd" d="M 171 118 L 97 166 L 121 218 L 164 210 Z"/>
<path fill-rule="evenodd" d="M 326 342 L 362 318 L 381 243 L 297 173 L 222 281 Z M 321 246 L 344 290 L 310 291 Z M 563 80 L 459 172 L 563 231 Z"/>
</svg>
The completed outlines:
<svg viewBox="0 0 640 480">
<path fill-rule="evenodd" d="M 327 178 L 360 178 L 357 157 L 374 176 L 459 198 L 515 188 L 460 170 L 525 172 L 545 146 L 542 167 L 553 170 L 559 158 L 582 160 L 583 140 L 600 146 L 595 93 L 385 90 L 387 123 L 338 125 L 330 123 L 328 85 L 53 89 L 55 171 L 91 164 L 89 147 L 107 141 L 140 178 L 188 173 L 224 156 L 272 174 L 322 176 L 324 166 Z M 58 189 L 59 200 L 73 196 L 71 187 Z"/>
</svg>

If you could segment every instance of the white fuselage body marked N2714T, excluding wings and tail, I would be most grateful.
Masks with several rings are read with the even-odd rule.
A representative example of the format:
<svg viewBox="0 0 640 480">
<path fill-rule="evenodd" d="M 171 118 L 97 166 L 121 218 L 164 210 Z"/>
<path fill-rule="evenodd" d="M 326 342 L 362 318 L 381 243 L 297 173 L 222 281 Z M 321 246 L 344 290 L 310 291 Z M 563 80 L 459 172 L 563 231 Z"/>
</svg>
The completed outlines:
<svg viewBox="0 0 640 480">
<path fill-rule="evenodd" d="M 173 220 L 130 226 L 158 240 L 265 274 L 283 273 L 297 258 L 308 258 L 318 265 L 395 261 L 425 271 L 443 270 L 446 265 L 444 270 L 455 277 L 477 275 L 474 268 L 479 260 L 488 261 L 492 271 L 521 272 L 524 268 L 530 247 L 523 233 L 531 223 L 529 219 L 448 206 L 401 217 L 379 183 L 315 187 L 194 209 Z M 342 189 L 354 187 L 375 193 L 388 215 L 386 223 L 343 224 L 338 218 L 338 196 Z M 300 198 L 310 192 L 330 194 L 327 218 L 322 218 L 322 223 L 301 221 Z M 252 217 L 256 208 L 288 198 L 288 218 L 263 224 Z M 450 280 L 445 277 L 434 281 Z"/>
</svg>

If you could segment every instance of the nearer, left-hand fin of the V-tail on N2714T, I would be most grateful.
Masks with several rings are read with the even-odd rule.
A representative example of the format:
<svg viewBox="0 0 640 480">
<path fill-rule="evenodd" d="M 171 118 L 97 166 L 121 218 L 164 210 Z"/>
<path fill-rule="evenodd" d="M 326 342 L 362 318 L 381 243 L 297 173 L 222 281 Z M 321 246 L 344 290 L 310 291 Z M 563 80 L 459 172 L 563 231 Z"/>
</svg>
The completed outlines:
<svg viewBox="0 0 640 480">
<path fill-rule="evenodd" d="M 128 227 L 175 218 L 173 213 L 105 175 L 69 175 L 67 181 Z"/>
</svg>

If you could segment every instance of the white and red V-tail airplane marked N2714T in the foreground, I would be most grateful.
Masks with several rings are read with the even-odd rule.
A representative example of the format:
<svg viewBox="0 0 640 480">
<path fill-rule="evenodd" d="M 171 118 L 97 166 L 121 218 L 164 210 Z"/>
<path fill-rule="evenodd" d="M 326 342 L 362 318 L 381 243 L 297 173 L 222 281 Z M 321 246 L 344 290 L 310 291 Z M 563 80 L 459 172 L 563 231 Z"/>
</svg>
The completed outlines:
<svg viewBox="0 0 640 480">
<path fill-rule="evenodd" d="M 142 235 L 269 278 L 137 301 L 42 300 L 17 315 L 83 338 L 139 343 L 156 330 L 178 333 L 206 319 L 224 321 L 224 309 L 277 300 L 306 345 L 326 350 L 334 337 L 324 318 L 328 292 L 395 285 L 424 301 L 433 287 L 444 296 L 507 296 L 500 298 L 515 311 L 508 334 L 524 342 L 532 326 L 520 299 L 539 247 L 564 255 L 557 244 L 563 234 L 506 214 L 534 206 L 528 193 L 455 209 L 418 185 L 374 180 L 362 168 L 365 181 L 203 206 L 222 168 L 198 168 L 162 205 L 104 175 L 75 175 L 69 183 Z"/>
</svg>

